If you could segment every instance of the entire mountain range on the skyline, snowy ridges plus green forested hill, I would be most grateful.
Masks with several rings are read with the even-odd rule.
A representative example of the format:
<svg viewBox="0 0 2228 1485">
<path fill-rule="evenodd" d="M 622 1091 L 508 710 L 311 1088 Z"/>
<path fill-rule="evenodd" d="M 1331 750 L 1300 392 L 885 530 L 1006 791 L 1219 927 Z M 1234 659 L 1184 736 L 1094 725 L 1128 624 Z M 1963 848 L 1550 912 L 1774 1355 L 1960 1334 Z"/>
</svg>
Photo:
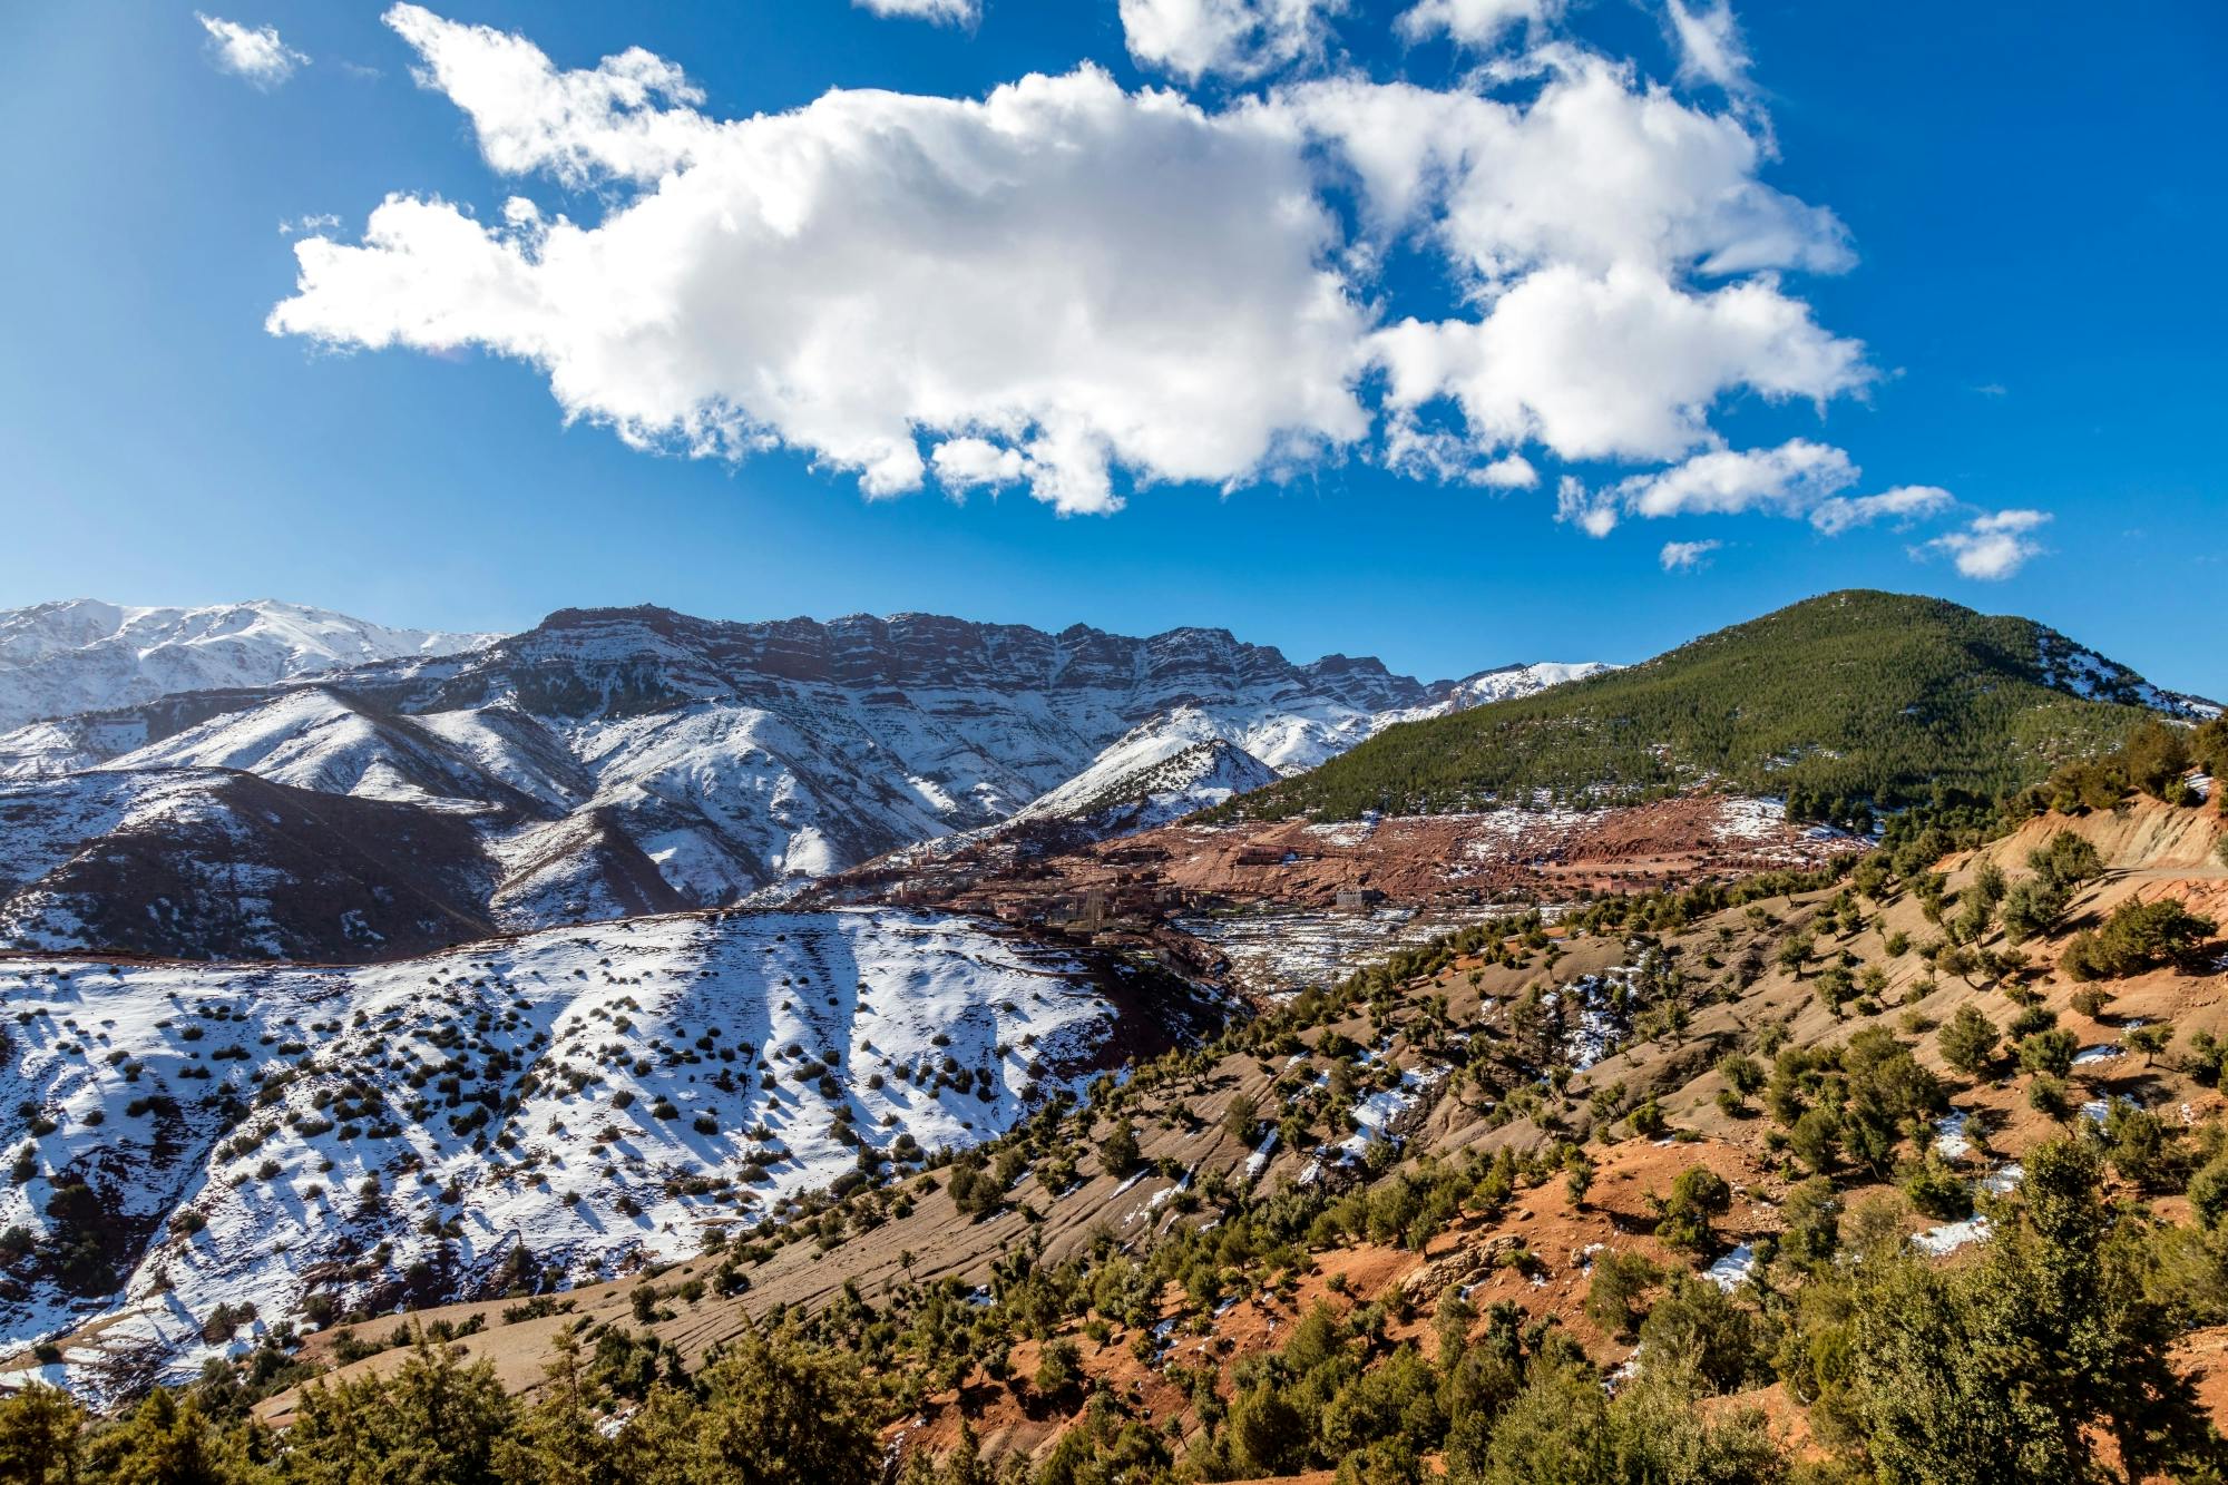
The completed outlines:
<svg viewBox="0 0 2228 1485">
<path fill-rule="evenodd" d="M 566 609 L 490 640 L 281 604 L 45 604 L 0 633 L 0 678 L 138 698 L 0 734 L 0 941 L 174 957 L 372 961 L 771 905 L 929 841 L 1027 827 L 1029 850 L 1072 850 L 1203 809 L 2001 794 L 2143 716 L 2215 711 L 2041 624 L 1892 593 L 1622 671 L 1439 682 L 1221 629 L 913 613 Z"/>
</svg>

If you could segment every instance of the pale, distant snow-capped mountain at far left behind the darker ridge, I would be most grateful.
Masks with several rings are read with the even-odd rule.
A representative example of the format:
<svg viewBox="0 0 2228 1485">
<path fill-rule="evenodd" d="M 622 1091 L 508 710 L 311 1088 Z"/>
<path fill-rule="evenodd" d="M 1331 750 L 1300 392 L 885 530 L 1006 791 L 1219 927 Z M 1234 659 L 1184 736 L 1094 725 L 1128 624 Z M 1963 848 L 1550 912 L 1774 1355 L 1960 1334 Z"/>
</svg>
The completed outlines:
<svg viewBox="0 0 2228 1485">
<path fill-rule="evenodd" d="M 272 600 L 131 609 L 74 598 L 0 609 L 0 731 L 178 691 L 267 687 L 374 660 L 448 656 L 490 638 L 388 629 Z"/>
</svg>

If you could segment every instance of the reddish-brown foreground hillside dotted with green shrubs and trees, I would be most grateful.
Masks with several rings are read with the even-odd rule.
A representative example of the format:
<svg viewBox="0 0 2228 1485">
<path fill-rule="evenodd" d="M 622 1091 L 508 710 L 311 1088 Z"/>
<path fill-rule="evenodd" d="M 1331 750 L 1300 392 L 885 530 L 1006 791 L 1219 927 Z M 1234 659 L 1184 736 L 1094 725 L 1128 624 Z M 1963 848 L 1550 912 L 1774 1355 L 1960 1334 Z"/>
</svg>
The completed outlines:
<svg viewBox="0 0 2228 1485">
<path fill-rule="evenodd" d="M 0 1463 L 2219 1481 L 2224 816 L 2195 778 L 2108 792 L 1473 925 L 675 1269 L 299 1349 L 276 1320 L 129 1418 L 31 1387 Z M 2068 963 L 2157 903 L 2159 954 Z"/>
</svg>

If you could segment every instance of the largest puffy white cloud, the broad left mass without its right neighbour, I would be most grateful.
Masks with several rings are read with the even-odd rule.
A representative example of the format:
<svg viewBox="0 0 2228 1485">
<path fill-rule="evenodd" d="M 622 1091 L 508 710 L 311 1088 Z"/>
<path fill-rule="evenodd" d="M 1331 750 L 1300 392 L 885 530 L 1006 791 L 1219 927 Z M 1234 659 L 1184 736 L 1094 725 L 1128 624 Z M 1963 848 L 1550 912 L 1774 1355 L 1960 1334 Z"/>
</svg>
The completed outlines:
<svg viewBox="0 0 2228 1485">
<path fill-rule="evenodd" d="M 390 196 L 361 248 L 310 239 L 270 328 L 336 346 L 483 346 L 541 366 L 573 417 L 642 446 L 780 441 L 918 488 L 1018 462 L 1061 511 L 1112 470 L 1237 482 L 1368 433 L 1366 330 L 1272 114 L 1205 114 L 1105 74 L 989 98 L 831 91 L 715 123 L 677 69 L 557 74 L 528 42 L 399 7 L 428 78 L 519 174 L 653 181 L 584 227 Z M 1170 201 L 1192 203 L 1172 214 Z"/>
</svg>

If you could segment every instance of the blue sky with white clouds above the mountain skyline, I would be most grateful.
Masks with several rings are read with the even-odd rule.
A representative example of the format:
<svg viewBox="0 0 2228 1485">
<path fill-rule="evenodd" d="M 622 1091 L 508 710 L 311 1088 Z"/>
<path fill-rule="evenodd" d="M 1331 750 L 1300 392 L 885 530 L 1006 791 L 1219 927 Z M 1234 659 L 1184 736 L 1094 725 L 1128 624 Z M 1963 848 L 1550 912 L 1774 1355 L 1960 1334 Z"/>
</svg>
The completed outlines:
<svg viewBox="0 0 2228 1485">
<path fill-rule="evenodd" d="M 475 69 L 492 65 L 481 33 L 419 27 L 421 42 L 455 49 L 455 74 L 417 85 L 421 47 L 377 4 L 214 0 L 212 18 L 276 31 L 292 60 L 263 76 L 243 74 L 192 7 L 20 13 L 0 60 L 13 143 L 0 158 L 13 205 L 0 236 L 0 604 L 276 595 L 450 629 L 515 629 L 568 604 L 724 618 L 927 609 L 1132 633 L 1223 624 L 1294 658 L 1377 653 L 1453 676 L 1519 658 L 1635 660 L 1816 591 L 1887 586 L 2027 613 L 2163 685 L 2228 693 L 2215 642 L 2228 586 L 2215 450 L 2228 392 L 2215 158 L 2228 138 L 2228 11 L 2146 4 L 2099 22 L 2074 4 L 1751 0 L 1731 11 L 1749 69 L 1711 76 L 1653 2 L 1493 2 L 1533 18 L 1457 40 L 1448 22 L 1404 27 L 1404 7 L 1274 0 L 1299 29 L 1279 33 L 1263 13 L 1250 54 L 1223 49 L 1196 74 L 1203 54 L 1152 56 L 1114 0 L 983 0 L 962 25 L 842 0 L 432 7 L 443 25 L 521 36 L 557 71 L 588 74 L 628 47 L 680 67 L 697 94 L 659 107 L 695 143 L 677 163 L 619 167 L 579 167 L 579 149 L 602 145 L 564 134 L 577 116 L 472 94 L 486 82 Z M 1562 71 L 1542 71 L 1542 56 L 1562 56 Z M 1074 82 L 1083 62 L 1118 103 Z M 1386 100 L 1386 85 L 1408 80 L 1404 107 L 1419 118 L 1455 118 L 1430 109 L 1468 98 L 1522 118 L 1586 67 L 1609 69 L 1633 107 L 1662 89 L 1718 143 L 1727 129 L 1767 140 L 1742 178 L 1760 196 L 1742 196 L 1731 223 L 1711 210 L 1635 227 L 1620 219 L 1631 192 L 1615 172 L 1638 172 L 1644 192 L 1662 163 L 1586 152 L 1577 176 L 1600 167 L 1602 181 L 1511 185 L 1493 194 L 1488 227 L 1448 203 L 1401 230 L 1372 225 L 1355 165 L 1366 140 L 1341 123 L 1343 103 Z M 829 89 L 980 100 L 1032 71 L 1067 82 L 1025 125 L 1081 129 L 1076 147 L 1105 149 L 1081 176 L 1105 198 L 1056 198 L 1076 176 L 1047 174 L 1040 154 L 994 161 L 1020 201 L 1000 198 L 1005 216 L 983 236 L 942 241 L 954 203 L 907 174 L 920 149 L 958 138 L 940 129 L 965 134 L 976 114 L 820 107 L 809 138 L 836 154 L 811 158 L 849 169 L 864 152 L 871 169 L 815 165 L 827 174 L 780 210 L 811 212 L 804 241 L 818 245 L 802 261 L 766 248 L 749 259 L 764 272 L 737 274 L 729 248 L 700 243 L 691 259 L 684 232 L 648 232 L 597 259 L 610 281 L 575 274 L 573 299 L 537 279 L 548 301 L 528 314 L 490 310 L 446 263 L 399 285 L 365 272 L 392 254 L 348 259 L 310 283 L 294 256 L 303 236 L 354 250 L 370 212 L 401 194 L 455 212 L 475 252 L 483 234 L 546 268 L 548 239 L 528 236 L 541 227 L 501 225 L 506 198 L 590 234 L 657 196 L 666 167 L 684 187 L 697 172 L 700 205 L 706 190 L 760 201 L 744 176 L 778 152 L 724 120 L 804 109 Z M 1156 134 L 1139 89 L 1183 94 L 1192 123 Z M 537 161 L 499 167 L 490 120 L 528 129 Z M 1306 132 L 1308 147 L 1286 158 L 1279 129 Z M 893 138 L 898 158 L 873 158 Z M 1491 154 L 1497 136 L 1479 138 Z M 1009 143 L 991 132 L 954 147 L 974 167 Z M 1274 236 L 1261 225 L 1274 212 L 1252 210 L 1286 167 L 1315 172 L 1315 225 L 1297 236 Z M 1566 212 L 1586 192 L 1600 205 Z M 325 214 L 336 221 L 281 232 Z M 1724 261 L 1704 265 L 1687 248 L 1696 234 Z M 905 254 L 927 241 L 942 256 L 916 274 Z M 1678 357 L 1700 352 L 1651 321 L 1606 363 L 1564 377 L 1569 326 L 1548 317 L 1544 339 L 1517 339 L 1513 305 L 1557 274 L 1606 281 L 1626 252 L 1669 263 L 1680 314 L 1753 285 L 1802 343 L 1724 352 L 1722 386 L 1671 441 L 1635 424 L 1646 397 L 1595 406 L 1602 366 L 1675 384 Z M 1036 323 L 1058 314 L 1000 314 L 1007 290 L 1040 305 L 1032 294 L 1067 283 L 1036 285 L 1032 254 L 1074 261 L 1061 274 L 1105 294 L 1052 348 Z M 1499 256 L 1482 270 L 1479 254 Z M 1290 341 L 1279 294 L 1323 272 L 1346 339 Z M 644 281 L 695 288 L 648 308 L 655 334 L 579 332 L 606 308 L 635 312 Z M 945 288 L 949 314 L 920 308 Z M 272 332 L 281 303 L 301 308 Z M 1141 319 L 1116 323 L 1110 305 Z M 1410 317 L 1444 341 L 1381 339 Z M 1491 392 L 1473 408 L 1448 379 L 1401 401 L 1404 377 L 1455 377 L 1446 366 L 1486 317 L 1504 328 Z M 381 326 L 419 328 L 372 348 Z M 1823 363 L 1851 341 L 1854 368 Z M 535 359 L 524 343 L 561 350 Z M 1352 366 L 1339 361 L 1348 343 Z M 706 412 L 673 390 L 677 363 L 729 401 Z M 980 370 L 969 381 L 951 363 Z M 751 401 L 769 377 L 782 395 Z M 1535 384 L 1555 379 L 1573 386 L 1542 410 Z M 1753 390 L 1771 379 L 1796 390 Z M 920 421 L 927 404 L 942 408 L 938 426 Z M 631 415 L 657 448 L 615 433 Z M 913 419 L 905 450 L 918 448 L 925 475 L 869 499 L 862 479 L 878 475 L 853 435 L 889 417 L 900 430 Z M 1430 462 L 1399 453 L 1404 417 L 1437 439 Z M 1266 428 L 1259 448 L 1230 433 L 1248 419 Z M 1049 437 L 1054 424 L 1078 441 Z M 688 457 L 691 430 L 717 448 Z M 1009 479 L 945 477 L 938 444 L 954 446 L 954 468 Z M 1508 488 L 1511 455 L 1526 488 Z M 1479 484 L 1491 466 L 1508 475 L 1497 486 Z M 905 470 L 889 479 L 902 486 Z M 1900 504 L 1823 513 L 1887 493 Z M 1589 511 L 1606 535 L 1586 533 Z M 1999 575 L 1958 571 L 1958 542 L 1972 571 Z M 1667 566 L 1673 544 L 1691 564 Z"/>
</svg>

